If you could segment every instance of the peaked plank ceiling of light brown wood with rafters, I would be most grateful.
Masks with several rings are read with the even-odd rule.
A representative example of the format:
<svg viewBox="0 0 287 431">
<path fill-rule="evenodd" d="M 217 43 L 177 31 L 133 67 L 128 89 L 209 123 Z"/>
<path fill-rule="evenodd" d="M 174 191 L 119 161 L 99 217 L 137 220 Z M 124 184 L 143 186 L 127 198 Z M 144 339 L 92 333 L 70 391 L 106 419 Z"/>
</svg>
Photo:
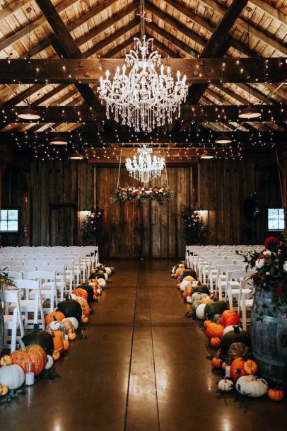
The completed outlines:
<svg viewBox="0 0 287 431">
<path fill-rule="evenodd" d="M 146 23 L 146 33 L 154 38 L 154 45 L 162 57 L 200 57 L 211 35 L 234 2 L 236 3 L 235 0 L 146 0 L 146 10 L 151 14 L 151 22 Z M 64 23 L 64 33 L 60 32 L 60 35 L 48 22 L 49 16 L 45 16 L 45 3 L 46 0 L 0 1 L 0 59 L 23 59 L 28 56 L 29 45 L 32 59 L 42 59 L 43 62 L 48 58 L 57 59 L 63 56 L 61 38 L 64 38 L 65 32 L 71 35 L 76 46 L 76 58 L 122 59 L 133 47 L 134 37 L 139 36 L 139 0 L 52 0 L 52 5 Z M 252 0 L 245 3 L 252 11 L 248 12 L 247 7 L 243 8 L 231 26 L 219 56 L 236 59 L 286 57 L 287 0 Z M 28 8 L 31 8 L 30 13 Z M 71 57 L 69 52 L 64 52 L 64 57 L 65 54 L 66 57 Z M 86 105 L 90 93 L 93 93 L 93 97 L 96 95 L 94 84 L 90 84 L 89 88 L 88 84 L 81 85 L 86 87 L 74 84 L 33 84 L 30 86 L 31 104 L 39 107 L 58 104 L 81 107 Z M 216 83 L 202 89 L 202 94 L 199 92 L 200 105 L 242 105 L 247 104 L 248 97 L 254 105 L 286 104 L 285 81 L 272 84 Z M 2 107 L 24 106 L 28 93 L 28 84 L 21 84 L 21 81 L 17 84 L 1 84 L 0 104 Z M 50 132 L 56 125 L 61 132 L 87 132 L 90 127 L 82 122 L 30 124 L 12 120 L 6 122 L 3 117 L 1 120 L 0 143 L 3 143 L 3 132 L 19 132 L 19 136 L 20 132 L 25 132 L 23 136 L 30 136 L 35 132 Z M 188 121 L 185 117 L 185 120 L 175 121 L 167 127 L 165 132 L 190 131 L 193 127 L 191 122 L 192 119 Z M 283 133 L 287 130 L 284 117 L 279 121 L 274 118 L 274 121 L 202 121 L 199 124 L 201 128 L 213 132 L 274 130 Z M 105 132 L 110 132 L 110 128 L 111 125 L 107 122 L 99 122 L 97 130 L 104 137 Z M 4 135 L 6 134 L 2 137 Z"/>
</svg>

